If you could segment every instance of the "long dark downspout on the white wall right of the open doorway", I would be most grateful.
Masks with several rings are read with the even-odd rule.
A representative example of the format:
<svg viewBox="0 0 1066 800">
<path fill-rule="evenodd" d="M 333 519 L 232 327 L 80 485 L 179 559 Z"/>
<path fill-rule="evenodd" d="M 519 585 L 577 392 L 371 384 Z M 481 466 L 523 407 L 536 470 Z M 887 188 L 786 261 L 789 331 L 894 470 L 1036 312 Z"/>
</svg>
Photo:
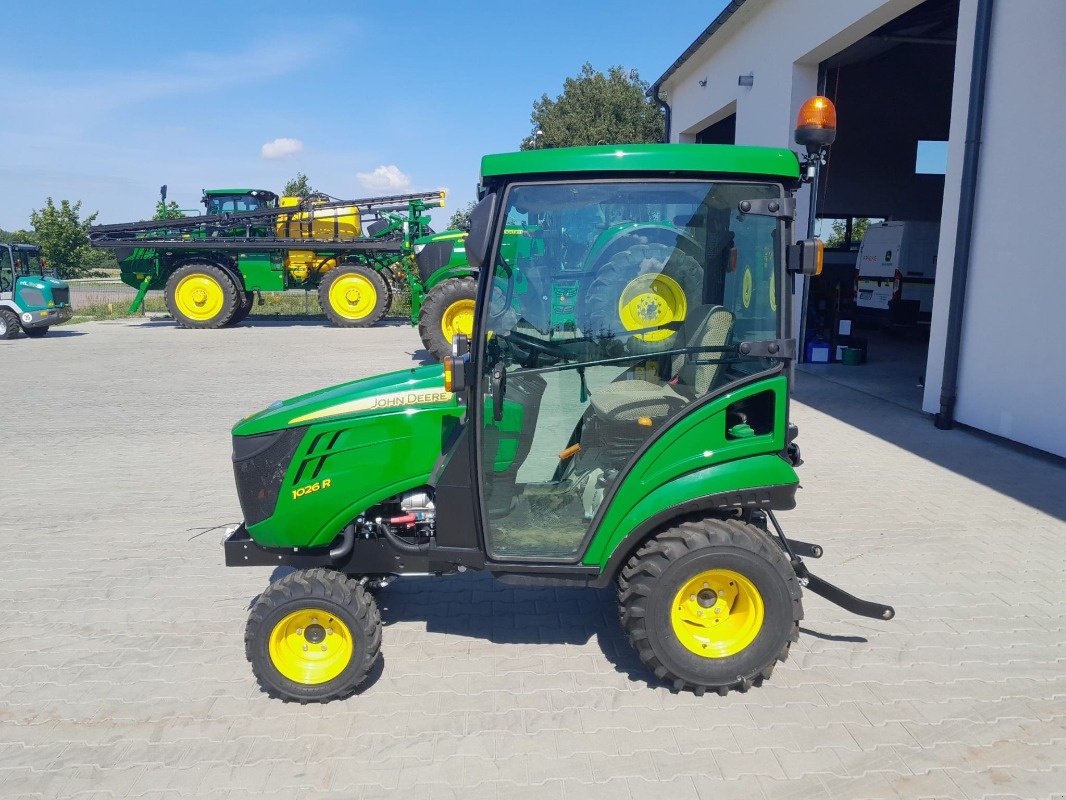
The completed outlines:
<svg viewBox="0 0 1066 800">
<path fill-rule="evenodd" d="M 958 227 L 955 231 L 955 260 L 951 268 L 948 333 L 944 341 L 943 378 L 940 383 L 940 412 L 934 418 L 934 425 L 941 431 L 951 430 L 955 425 L 963 310 L 966 306 L 966 279 L 970 270 L 970 247 L 973 243 L 973 206 L 978 194 L 978 166 L 981 160 L 981 130 L 985 115 L 985 84 L 988 78 L 991 28 L 992 0 L 979 0 L 978 23 L 973 32 L 973 63 L 970 67 L 966 150 L 963 155 L 963 180 L 958 197 Z"/>
</svg>

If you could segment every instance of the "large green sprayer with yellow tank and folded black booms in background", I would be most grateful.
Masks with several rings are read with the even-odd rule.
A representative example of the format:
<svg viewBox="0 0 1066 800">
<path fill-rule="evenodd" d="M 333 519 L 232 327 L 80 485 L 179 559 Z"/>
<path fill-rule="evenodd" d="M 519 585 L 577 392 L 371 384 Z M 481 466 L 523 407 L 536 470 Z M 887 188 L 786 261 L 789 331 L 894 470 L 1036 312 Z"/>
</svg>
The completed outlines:
<svg viewBox="0 0 1066 800">
<path fill-rule="evenodd" d="M 365 327 L 387 313 L 397 271 L 431 230 L 426 211 L 443 201 L 439 191 L 340 201 L 209 189 L 205 214 L 95 225 L 90 238 L 115 252 L 123 282 L 138 289 L 131 314 L 161 290 L 181 327 L 227 327 L 257 294 L 304 289 L 333 324 Z"/>
</svg>

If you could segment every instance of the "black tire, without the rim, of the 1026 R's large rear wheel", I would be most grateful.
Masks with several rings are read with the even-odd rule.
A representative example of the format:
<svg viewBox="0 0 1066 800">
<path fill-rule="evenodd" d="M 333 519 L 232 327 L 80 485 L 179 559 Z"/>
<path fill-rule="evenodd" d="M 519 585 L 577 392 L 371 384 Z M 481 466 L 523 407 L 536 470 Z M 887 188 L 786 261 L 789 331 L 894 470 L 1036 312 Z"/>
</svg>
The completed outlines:
<svg viewBox="0 0 1066 800">
<path fill-rule="evenodd" d="M 675 599 L 684 602 L 681 591 L 685 583 L 709 571 L 739 574 L 754 587 L 762 604 L 763 615 L 754 639 L 731 654 L 697 654 L 674 630 Z M 792 565 L 766 533 L 737 519 L 684 522 L 659 533 L 629 560 L 618 586 L 621 624 L 630 643 L 656 676 L 676 691 L 747 691 L 769 678 L 778 661 L 788 658 L 789 647 L 800 636 L 803 604 Z M 706 589 L 707 583 L 702 586 Z M 716 619 L 710 615 L 713 608 L 723 608 L 724 622 L 730 611 L 739 608 L 728 608 L 728 599 L 718 606 L 714 591 L 708 598 L 713 599 L 713 605 L 707 606 L 705 593 L 699 593 L 698 606 L 708 609 L 708 621 Z M 709 626 L 698 630 L 713 637 Z M 713 643 L 713 639 L 707 641 Z"/>
</svg>

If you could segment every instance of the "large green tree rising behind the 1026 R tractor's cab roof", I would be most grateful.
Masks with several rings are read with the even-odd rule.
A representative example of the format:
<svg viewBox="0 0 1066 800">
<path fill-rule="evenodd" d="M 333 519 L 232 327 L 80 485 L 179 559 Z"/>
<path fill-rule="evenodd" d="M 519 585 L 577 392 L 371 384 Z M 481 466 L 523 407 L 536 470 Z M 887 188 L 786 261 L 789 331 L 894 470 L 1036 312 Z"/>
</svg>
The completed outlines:
<svg viewBox="0 0 1066 800">
<path fill-rule="evenodd" d="M 534 132 L 521 148 L 661 142 L 663 116 L 647 89 L 635 69 L 613 66 L 604 75 L 586 62 L 563 82 L 563 94 L 554 100 L 545 94 L 533 103 Z"/>
</svg>

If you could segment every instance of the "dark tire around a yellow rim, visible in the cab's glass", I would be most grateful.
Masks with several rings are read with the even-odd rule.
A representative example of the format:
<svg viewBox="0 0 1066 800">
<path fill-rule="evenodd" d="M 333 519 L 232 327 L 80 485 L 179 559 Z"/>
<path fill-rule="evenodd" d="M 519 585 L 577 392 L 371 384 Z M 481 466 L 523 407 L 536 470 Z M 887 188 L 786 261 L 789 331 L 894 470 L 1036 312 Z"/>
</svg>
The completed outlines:
<svg viewBox="0 0 1066 800">
<path fill-rule="evenodd" d="M 627 331 L 618 316 L 618 301 L 630 282 L 647 273 L 662 273 L 677 282 L 689 308 L 702 302 L 702 270 L 695 258 L 666 244 L 632 244 L 599 265 L 588 289 L 581 294 L 578 323 L 585 334 L 625 336 Z M 628 345 L 634 352 L 655 352 L 667 349 L 674 338 L 650 342 L 630 337 Z"/>
</svg>

